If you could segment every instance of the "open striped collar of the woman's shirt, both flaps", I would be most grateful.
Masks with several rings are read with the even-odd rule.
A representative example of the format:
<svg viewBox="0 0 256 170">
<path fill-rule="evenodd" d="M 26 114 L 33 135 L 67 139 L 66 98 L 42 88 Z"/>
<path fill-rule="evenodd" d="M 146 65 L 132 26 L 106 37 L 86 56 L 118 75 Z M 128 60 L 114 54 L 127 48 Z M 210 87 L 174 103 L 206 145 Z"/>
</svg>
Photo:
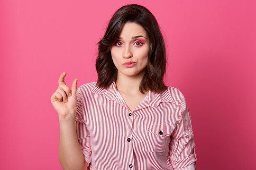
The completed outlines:
<svg viewBox="0 0 256 170">
<path fill-rule="evenodd" d="M 115 96 L 117 95 L 117 87 L 116 82 L 113 81 L 113 83 L 107 88 L 98 88 L 97 86 L 91 90 L 91 93 L 95 94 L 102 94 L 105 95 L 105 97 L 108 100 L 113 101 Z M 155 93 L 153 91 L 148 91 L 148 102 L 150 107 L 156 108 L 160 102 L 172 102 L 175 103 L 173 96 L 170 93 L 170 88 L 165 90 L 162 93 Z"/>
</svg>

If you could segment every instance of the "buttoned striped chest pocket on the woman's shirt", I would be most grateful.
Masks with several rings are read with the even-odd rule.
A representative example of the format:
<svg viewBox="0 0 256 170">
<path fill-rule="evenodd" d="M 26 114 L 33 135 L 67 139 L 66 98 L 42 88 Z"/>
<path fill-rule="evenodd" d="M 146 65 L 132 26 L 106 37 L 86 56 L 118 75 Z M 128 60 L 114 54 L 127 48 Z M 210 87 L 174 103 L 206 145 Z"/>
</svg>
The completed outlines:
<svg viewBox="0 0 256 170">
<path fill-rule="evenodd" d="M 174 128 L 175 124 L 171 123 L 147 123 L 145 151 L 165 152 L 166 149 L 169 151 L 168 145 Z"/>
</svg>

